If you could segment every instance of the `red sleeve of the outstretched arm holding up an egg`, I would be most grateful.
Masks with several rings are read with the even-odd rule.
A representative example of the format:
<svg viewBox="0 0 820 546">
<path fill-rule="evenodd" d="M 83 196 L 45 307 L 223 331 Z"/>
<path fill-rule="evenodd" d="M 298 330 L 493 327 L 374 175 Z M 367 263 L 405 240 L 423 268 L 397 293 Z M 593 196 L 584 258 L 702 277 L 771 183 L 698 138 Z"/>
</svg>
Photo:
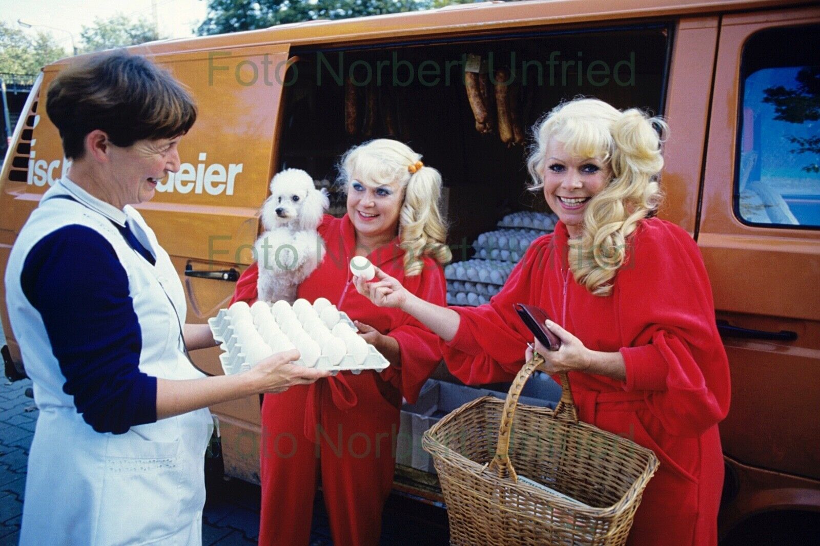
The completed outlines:
<svg viewBox="0 0 820 546">
<path fill-rule="evenodd" d="M 512 308 L 514 303 L 535 303 L 531 294 L 533 275 L 543 276 L 536 264 L 543 263 L 550 248 L 549 236 L 532 243 L 512 269 L 503 289 L 490 303 L 479 307 L 451 307 L 461 316 L 458 332 L 441 342 L 449 371 L 466 384 L 509 381 L 521 369 L 528 340 L 526 330 Z"/>
</svg>

